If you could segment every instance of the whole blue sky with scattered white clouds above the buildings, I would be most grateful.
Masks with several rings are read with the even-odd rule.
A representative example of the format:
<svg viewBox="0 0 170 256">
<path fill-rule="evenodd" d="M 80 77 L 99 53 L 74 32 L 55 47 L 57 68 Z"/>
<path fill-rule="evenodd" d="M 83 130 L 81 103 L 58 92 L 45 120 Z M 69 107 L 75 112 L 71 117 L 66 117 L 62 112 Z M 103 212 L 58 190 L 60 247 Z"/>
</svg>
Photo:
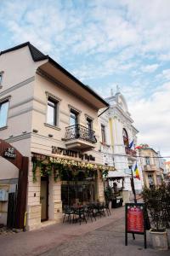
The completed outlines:
<svg viewBox="0 0 170 256">
<path fill-rule="evenodd" d="M 0 0 L 0 50 L 30 41 L 100 96 L 116 84 L 138 142 L 170 156 L 169 0 Z"/>
</svg>

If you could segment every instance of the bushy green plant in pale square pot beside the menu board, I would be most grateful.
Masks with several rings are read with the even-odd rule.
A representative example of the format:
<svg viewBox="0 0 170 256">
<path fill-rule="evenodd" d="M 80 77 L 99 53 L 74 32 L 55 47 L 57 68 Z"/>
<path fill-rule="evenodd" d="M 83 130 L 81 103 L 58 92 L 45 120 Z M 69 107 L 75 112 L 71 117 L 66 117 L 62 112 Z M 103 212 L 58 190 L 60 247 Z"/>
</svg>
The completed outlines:
<svg viewBox="0 0 170 256">
<path fill-rule="evenodd" d="M 150 236 L 156 249 L 167 250 L 167 227 L 169 226 L 169 191 L 166 183 L 160 188 L 144 188 L 143 199 L 150 218 Z"/>
</svg>

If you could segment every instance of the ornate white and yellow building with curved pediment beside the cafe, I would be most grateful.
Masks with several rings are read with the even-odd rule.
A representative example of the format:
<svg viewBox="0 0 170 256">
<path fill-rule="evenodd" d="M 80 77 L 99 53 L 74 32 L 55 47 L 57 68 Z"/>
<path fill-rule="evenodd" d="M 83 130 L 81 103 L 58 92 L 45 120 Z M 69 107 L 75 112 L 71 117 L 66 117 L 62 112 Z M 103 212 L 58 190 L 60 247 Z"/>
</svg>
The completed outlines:
<svg viewBox="0 0 170 256">
<path fill-rule="evenodd" d="M 112 166 L 115 165 L 116 171 L 112 173 L 113 177 L 122 177 L 124 202 L 129 201 L 131 189 L 130 177 L 131 169 L 134 169 L 137 163 L 137 155 L 134 145 L 137 143 L 137 133 L 139 132 L 133 126 L 133 119 L 128 112 L 127 102 L 117 88 L 116 95 L 105 99 L 110 108 L 105 111 L 99 111 L 100 125 L 100 148 L 104 153 L 104 163 Z M 129 145 L 131 144 L 131 148 Z M 130 174 L 130 175 L 129 175 Z M 111 176 L 111 172 L 110 172 Z M 134 186 L 139 193 L 142 190 L 141 180 L 134 178 Z M 117 178 L 119 180 L 120 178 Z M 113 182 L 110 182 L 111 187 Z M 117 183 L 120 186 L 120 183 Z"/>
</svg>

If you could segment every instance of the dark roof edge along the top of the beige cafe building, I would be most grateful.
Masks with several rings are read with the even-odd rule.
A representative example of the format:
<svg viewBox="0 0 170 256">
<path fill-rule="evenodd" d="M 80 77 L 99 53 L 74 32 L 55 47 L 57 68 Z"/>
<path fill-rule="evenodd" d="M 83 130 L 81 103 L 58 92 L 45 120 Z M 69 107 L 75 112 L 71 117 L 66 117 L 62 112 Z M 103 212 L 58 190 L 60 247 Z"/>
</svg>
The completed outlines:
<svg viewBox="0 0 170 256">
<path fill-rule="evenodd" d="M 48 60 L 54 67 L 58 68 L 62 73 L 65 73 L 67 77 L 75 81 L 77 84 L 79 84 L 84 90 L 87 90 L 90 94 L 92 94 L 94 97 L 96 97 L 100 102 L 105 104 L 106 107 L 109 107 L 109 103 L 106 102 L 101 96 L 99 96 L 94 90 L 92 90 L 88 85 L 83 84 L 80 80 L 78 80 L 76 77 L 74 77 L 71 73 L 69 73 L 64 67 L 61 67 L 56 61 L 54 61 L 51 57 L 48 55 L 44 55 L 39 49 L 37 49 L 35 46 L 33 46 L 30 42 L 26 42 L 24 44 L 19 44 L 13 48 L 5 49 L 0 52 L 0 55 L 3 55 L 5 53 L 8 53 L 10 51 L 20 49 L 23 47 L 28 46 L 31 52 L 31 57 L 33 61 L 43 61 Z"/>
</svg>

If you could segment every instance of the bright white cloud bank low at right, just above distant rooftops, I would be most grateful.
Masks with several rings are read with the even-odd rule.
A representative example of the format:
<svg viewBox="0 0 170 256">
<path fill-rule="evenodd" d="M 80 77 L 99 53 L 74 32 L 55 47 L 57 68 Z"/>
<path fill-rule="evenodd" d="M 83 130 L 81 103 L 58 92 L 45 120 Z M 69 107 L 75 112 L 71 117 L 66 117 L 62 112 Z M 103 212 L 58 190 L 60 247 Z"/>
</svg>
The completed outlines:
<svg viewBox="0 0 170 256">
<path fill-rule="evenodd" d="M 170 82 L 162 84 L 148 99 L 129 102 L 130 113 L 139 130 L 139 143 L 150 144 L 162 154 L 169 154 L 170 142 Z"/>
</svg>

